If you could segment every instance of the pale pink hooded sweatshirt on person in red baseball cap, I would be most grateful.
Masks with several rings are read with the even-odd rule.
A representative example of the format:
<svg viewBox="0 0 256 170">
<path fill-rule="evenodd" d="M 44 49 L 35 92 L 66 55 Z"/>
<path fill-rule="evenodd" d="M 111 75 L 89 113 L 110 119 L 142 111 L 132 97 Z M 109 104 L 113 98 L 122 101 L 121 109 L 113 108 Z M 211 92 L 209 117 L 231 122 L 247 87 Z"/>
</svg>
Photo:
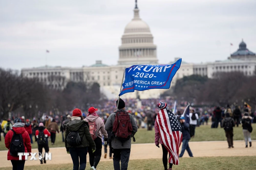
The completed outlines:
<svg viewBox="0 0 256 170">
<path fill-rule="evenodd" d="M 108 133 L 105 130 L 105 125 L 102 119 L 99 116 L 93 116 L 89 115 L 84 119 L 86 122 L 95 122 L 97 131 L 98 131 L 98 137 L 102 139 L 102 134 L 104 135 L 105 138 L 108 138 Z"/>
</svg>

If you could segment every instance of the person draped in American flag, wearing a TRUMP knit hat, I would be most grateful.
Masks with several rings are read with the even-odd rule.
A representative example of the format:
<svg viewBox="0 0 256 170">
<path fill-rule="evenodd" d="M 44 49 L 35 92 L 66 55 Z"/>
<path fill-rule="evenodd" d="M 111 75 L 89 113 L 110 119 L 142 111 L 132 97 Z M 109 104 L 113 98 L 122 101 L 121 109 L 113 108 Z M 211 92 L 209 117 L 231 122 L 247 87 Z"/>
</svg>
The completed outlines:
<svg viewBox="0 0 256 170">
<path fill-rule="evenodd" d="M 179 147 L 182 142 L 181 126 L 173 112 L 167 108 L 165 102 L 159 102 L 156 105 L 160 111 L 155 121 L 155 145 L 159 143 L 163 150 L 163 165 L 165 170 L 172 170 L 172 166 L 179 164 Z M 169 153 L 169 160 L 167 155 Z M 169 168 L 167 168 L 167 160 Z"/>
</svg>

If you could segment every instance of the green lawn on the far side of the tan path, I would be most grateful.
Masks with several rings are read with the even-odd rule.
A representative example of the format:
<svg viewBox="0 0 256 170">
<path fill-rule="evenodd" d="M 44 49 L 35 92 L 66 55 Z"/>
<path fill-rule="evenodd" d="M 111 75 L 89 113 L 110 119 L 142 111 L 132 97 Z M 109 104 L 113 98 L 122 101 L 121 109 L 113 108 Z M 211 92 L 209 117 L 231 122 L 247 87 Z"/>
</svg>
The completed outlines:
<svg viewBox="0 0 256 170">
<path fill-rule="evenodd" d="M 252 140 L 256 140 L 256 124 L 252 124 L 253 131 L 251 134 Z M 135 134 L 136 142 L 132 143 L 154 143 L 155 142 L 155 130 L 147 131 L 146 129 L 138 129 Z M 33 137 L 34 140 L 34 137 Z M 191 141 L 215 141 L 215 140 L 226 140 L 225 132 L 223 128 L 211 128 L 210 125 L 203 125 L 196 127 L 196 134 Z M 234 140 L 244 140 L 241 125 L 234 127 Z M 50 147 L 64 147 L 65 144 L 62 142 L 61 134 L 56 135 L 55 145 L 49 145 Z M 37 143 L 32 144 L 32 148 L 37 148 Z M 0 141 L 0 150 L 7 150 L 5 148 L 4 140 Z"/>
</svg>

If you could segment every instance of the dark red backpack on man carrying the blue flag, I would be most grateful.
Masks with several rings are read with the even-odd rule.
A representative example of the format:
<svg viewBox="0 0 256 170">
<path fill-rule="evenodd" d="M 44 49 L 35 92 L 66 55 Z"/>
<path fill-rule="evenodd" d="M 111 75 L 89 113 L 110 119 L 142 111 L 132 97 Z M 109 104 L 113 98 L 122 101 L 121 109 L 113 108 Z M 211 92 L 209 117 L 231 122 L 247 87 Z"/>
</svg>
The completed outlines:
<svg viewBox="0 0 256 170">
<path fill-rule="evenodd" d="M 132 123 L 128 112 L 115 112 L 115 121 L 113 124 L 113 133 L 115 138 L 122 141 L 129 140 L 132 135 Z"/>
</svg>

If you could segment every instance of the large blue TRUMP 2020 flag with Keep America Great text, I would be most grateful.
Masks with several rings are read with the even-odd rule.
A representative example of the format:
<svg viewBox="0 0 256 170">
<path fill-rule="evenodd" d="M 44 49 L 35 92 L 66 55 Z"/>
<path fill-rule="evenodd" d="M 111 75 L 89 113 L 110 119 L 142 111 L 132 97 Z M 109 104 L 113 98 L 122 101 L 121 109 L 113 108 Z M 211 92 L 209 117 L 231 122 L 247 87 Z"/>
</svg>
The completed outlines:
<svg viewBox="0 0 256 170">
<path fill-rule="evenodd" d="M 134 90 L 169 89 L 181 61 L 180 58 L 171 65 L 134 65 L 126 68 L 119 96 Z"/>
</svg>

